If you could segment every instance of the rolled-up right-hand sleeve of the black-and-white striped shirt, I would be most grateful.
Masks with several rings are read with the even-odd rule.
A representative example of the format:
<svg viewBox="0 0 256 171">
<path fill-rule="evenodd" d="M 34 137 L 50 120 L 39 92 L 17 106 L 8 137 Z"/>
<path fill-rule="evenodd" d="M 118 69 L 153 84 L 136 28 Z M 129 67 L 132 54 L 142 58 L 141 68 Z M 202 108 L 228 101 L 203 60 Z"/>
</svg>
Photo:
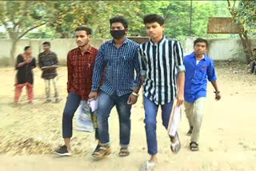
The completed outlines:
<svg viewBox="0 0 256 171">
<path fill-rule="evenodd" d="M 180 42 L 174 43 L 174 54 L 177 72 L 179 73 L 185 71 L 183 50 Z"/>
</svg>

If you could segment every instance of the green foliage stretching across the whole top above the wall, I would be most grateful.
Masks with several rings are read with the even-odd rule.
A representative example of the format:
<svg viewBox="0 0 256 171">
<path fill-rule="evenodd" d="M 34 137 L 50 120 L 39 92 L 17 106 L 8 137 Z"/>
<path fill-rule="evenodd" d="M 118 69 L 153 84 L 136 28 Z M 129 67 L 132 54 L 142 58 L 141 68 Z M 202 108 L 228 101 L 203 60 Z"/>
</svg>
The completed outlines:
<svg viewBox="0 0 256 171">
<path fill-rule="evenodd" d="M 241 16 L 239 20 L 253 32 L 255 3 L 241 1 L 236 11 Z M 190 1 L 6 1 L 0 5 L 0 24 L 5 23 L 12 32 L 22 34 L 31 26 L 46 22 L 38 33 L 27 34 L 27 38 L 73 38 L 74 29 L 82 25 L 93 28 L 94 38 L 110 38 L 109 20 L 115 15 L 128 20 L 130 36 L 146 36 L 142 22 L 146 14 L 160 14 L 166 19 L 165 34 L 169 38 L 190 35 Z M 192 36 L 196 37 L 220 36 L 206 33 L 208 19 L 230 17 L 223 1 L 193 1 L 192 10 Z"/>
</svg>

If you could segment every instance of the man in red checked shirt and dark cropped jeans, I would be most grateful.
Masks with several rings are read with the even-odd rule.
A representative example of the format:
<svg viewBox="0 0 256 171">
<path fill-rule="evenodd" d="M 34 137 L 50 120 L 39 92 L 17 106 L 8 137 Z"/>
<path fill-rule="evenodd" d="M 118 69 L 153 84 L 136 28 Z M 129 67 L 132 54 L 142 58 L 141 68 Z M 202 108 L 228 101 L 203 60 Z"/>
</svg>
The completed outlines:
<svg viewBox="0 0 256 171">
<path fill-rule="evenodd" d="M 92 85 L 94 63 L 98 53 L 90 46 L 92 30 L 80 26 L 75 30 L 78 47 L 70 50 L 67 55 L 68 82 L 66 105 L 62 117 L 62 136 L 65 145 L 56 149 L 55 153 L 61 156 L 70 156 L 70 138 L 72 137 L 72 120 L 81 100 L 88 100 Z M 98 139 L 98 133 L 95 132 Z M 96 148 L 97 149 L 97 148 Z"/>
</svg>

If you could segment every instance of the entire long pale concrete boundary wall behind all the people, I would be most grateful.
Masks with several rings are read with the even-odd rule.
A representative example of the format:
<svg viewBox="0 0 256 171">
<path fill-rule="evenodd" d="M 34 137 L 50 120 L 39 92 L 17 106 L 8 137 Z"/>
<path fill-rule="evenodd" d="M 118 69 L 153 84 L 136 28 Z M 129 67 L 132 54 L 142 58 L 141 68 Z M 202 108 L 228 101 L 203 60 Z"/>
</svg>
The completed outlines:
<svg viewBox="0 0 256 171">
<path fill-rule="evenodd" d="M 138 38 L 137 38 L 138 39 Z M 134 41 L 138 41 L 136 38 Z M 142 39 L 142 38 L 140 38 Z M 144 38 L 145 39 L 145 38 Z M 144 40 L 143 39 L 143 40 Z M 193 42 L 196 38 L 186 38 L 184 47 L 184 54 L 190 54 L 194 51 Z M 145 39 L 146 40 L 146 39 Z M 227 60 L 238 59 L 244 61 L 244 53 L 242 49 L 242 42 L 239 38 L 210 38 L 208 54 L 214 60 Z M 42 42 L 50 41 L 51 50 L 58 54 L 58 59 L 61 65 L 66 64 L 66 54 L 69 50 L 77 47 L 74 38 L 66 39 L 22 39 L 18 41 L 18 45 L 15 50 L 15 57 L 23 52 L 25 46 L 32 46 L 34 57 L 38 58 L 38 54 L 42 52 Z M 99 48 L 104 39 L 93 39 L 90 44 L 95 48 Z M 139 40 L 142 41 L 142 40 Z M 256 47 L 256 39 L 252 39 L 252 47 Z M 7 66 L 10 64 L 10 39 L 0 39 L 0 66 Z"/>
</svg>

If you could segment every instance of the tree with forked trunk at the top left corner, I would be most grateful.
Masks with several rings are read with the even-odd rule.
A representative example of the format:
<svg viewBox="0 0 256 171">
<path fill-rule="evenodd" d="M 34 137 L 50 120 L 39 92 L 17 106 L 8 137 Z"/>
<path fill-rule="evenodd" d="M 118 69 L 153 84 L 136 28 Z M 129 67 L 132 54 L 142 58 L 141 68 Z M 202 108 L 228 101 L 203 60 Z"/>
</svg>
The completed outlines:
<svg viewBox="0 0 256 171">
<path fill-rule="evenodd" d="M 45 2 L 0 2 L 0 23 L 5 27 L 11 40 L 10 63 L 14 63 L 17 42 L 30 30 L 46 24 Z M 48 5 L 47 5 L 48 7 Z"/>
</svg>

